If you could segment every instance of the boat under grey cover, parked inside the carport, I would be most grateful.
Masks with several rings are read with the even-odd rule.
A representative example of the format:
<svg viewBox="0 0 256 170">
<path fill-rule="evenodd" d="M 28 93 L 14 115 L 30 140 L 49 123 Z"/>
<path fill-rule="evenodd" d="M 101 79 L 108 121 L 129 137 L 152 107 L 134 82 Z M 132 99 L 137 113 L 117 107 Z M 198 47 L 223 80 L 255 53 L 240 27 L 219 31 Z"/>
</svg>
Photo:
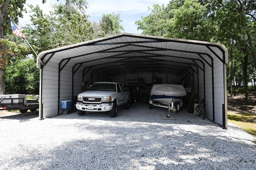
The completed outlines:
<svg viewBox="0 0 256 170">
<path fill-rule="evenodd" d="M 179 84 L 154 84 L 150 92 L 150 107 L 169 106 L 174 102 L 174 107 L 178 111 L 186 94 L 185 88 Z"/>
</svg>

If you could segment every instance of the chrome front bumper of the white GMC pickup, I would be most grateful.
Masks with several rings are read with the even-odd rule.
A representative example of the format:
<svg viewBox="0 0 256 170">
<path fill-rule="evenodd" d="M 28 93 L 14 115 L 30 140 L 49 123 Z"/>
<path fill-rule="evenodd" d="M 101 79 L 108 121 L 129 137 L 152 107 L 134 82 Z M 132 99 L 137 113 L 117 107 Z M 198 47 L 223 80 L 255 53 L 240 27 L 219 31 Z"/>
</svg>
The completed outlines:
<svg viewBox="0 0 256 170">
<path fill-rule="evenodd" d="M 113 108 L 112 103 L 102 103 L 102 104 L 84 104 L 81 102 L 76 102 L 76 109 L 82 111 L 110 111 Z"/>
</svg>

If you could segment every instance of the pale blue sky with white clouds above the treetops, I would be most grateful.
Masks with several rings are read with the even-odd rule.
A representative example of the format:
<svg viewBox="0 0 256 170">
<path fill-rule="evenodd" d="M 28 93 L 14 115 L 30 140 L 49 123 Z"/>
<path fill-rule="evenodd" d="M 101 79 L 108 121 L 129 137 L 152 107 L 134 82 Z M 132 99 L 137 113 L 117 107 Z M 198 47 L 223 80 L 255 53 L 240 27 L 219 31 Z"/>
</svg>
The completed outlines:
<svg viewBox="0 0 256 170">
<path fill-rule="evenodd" d="M 138 25 L 135 21 L 141 20 L 142 16 L 148 16 L 154 4 L 164 4 L 166 6 L 170 0 L 86 0 L 88 2 L 88 15 L 90 21 L 99 22 L 102 14 L 120 14 L 122 20 L 121 25 L 124 27 L 124 32 L 141 34 L 142 30 L 137 30 Z M 42 4 L 42 0 L 26 0 L 26 4 L 38 4 L 44 14 L 49 14 L 51 4 L 61 2 L 64 4 L 66 0 L 46 0 L 46 4 Z M 25 6 L 29 11 L 30 8 Z M 25 26 L 30 23 L 29 14 L 24 14 L 24 18 L 19 19 L 19 24 Z"/>
</svg>

